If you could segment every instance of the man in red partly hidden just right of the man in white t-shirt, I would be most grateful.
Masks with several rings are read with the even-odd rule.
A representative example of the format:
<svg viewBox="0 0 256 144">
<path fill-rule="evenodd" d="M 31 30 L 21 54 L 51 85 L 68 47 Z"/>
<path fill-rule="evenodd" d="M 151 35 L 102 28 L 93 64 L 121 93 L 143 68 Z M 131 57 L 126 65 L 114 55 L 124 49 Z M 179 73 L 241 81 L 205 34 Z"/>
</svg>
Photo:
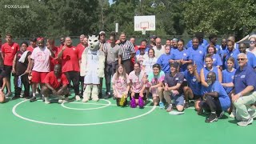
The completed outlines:
<svg viewBox="0 0 256 144">
<path fill-rule="evenodd" d="M 50 47 L 51 50 L 54 52 L 54 56 L 58 56 L 58 47 L 54 45 L 54 38 L 47 39 L 46 46 Z M 54 66 L 57 64 L 61 64 L 61 59 L 58 58 L 50 58 L 50 71 L 54 70 Z"/>
</svg>

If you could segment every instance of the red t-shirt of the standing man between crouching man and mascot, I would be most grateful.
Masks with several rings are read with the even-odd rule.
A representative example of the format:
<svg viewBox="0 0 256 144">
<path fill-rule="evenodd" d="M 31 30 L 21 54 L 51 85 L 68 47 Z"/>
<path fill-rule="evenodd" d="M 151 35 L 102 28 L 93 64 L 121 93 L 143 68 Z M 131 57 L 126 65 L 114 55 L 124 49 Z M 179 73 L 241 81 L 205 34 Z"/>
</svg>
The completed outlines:
<svg viewBox="0 0 256 144">
<path fill-rule="evenodd" d="M 78 49 L 74 46 L 66 46 L 62 54 L 62 72 L 80 71 L 78 61 Z"/>
</svg>

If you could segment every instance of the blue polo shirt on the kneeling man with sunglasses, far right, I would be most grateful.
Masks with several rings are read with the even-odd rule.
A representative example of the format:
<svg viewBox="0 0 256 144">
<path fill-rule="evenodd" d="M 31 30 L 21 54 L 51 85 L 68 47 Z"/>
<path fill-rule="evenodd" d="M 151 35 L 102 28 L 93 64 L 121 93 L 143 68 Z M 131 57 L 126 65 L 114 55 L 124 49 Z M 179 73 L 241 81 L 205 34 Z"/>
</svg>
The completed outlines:
<svg viewBox="0 0 256 144">
<path fill-rule="evenodd" d="M 234 93 L 238 94 L 244 90 L 247 86 L 254 86 L 256 90 L 256 73 L 250 66 L 244 66 L 242 70 L 238 68 L 234 73 Z"/>
</svg>

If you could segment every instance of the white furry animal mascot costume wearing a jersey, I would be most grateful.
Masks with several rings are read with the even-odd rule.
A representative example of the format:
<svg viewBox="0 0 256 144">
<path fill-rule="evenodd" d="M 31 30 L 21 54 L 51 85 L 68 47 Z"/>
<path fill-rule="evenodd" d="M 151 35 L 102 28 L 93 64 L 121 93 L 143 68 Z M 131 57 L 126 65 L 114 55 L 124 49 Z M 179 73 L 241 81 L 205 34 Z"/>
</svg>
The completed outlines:
<svg viewBox="0 0 256 144">
<path fill-rule="evenodd" d="M 90 96 L 98 101 L 98 86 L 100 78 L 104 77 L 105 54 L 99 50 L 98 36 L 89 36 L 89 46 L 82 53 L 80 75 L 85 77 L 82 102 L 88 102 Z"/>
</svg>

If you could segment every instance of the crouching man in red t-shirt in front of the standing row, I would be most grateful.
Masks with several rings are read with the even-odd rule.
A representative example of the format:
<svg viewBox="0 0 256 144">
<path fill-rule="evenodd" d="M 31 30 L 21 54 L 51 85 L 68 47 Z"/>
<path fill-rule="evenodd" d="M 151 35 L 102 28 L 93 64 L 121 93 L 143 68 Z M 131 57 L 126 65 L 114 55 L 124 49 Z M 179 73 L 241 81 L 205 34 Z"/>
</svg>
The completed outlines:
<svg viewBox="0 0 256 144">
<path fill-rule="evenodd" d="M 45 86 L 42 87 L 42 94 L 45 96 L 45 103 L 49 104 L 49 96 L 53 94 L 58 97 L 58 102 L 68 102 L 67 95 L 69 94 L 68 84 L 69 81 L 66 75 L 62 73 L 62 67 L 57 64 L 54 66 L 54 71 L 46 75 L 44 79 Z M 63 97 L 65 95 L 65 98 Z"/>
</svg>

